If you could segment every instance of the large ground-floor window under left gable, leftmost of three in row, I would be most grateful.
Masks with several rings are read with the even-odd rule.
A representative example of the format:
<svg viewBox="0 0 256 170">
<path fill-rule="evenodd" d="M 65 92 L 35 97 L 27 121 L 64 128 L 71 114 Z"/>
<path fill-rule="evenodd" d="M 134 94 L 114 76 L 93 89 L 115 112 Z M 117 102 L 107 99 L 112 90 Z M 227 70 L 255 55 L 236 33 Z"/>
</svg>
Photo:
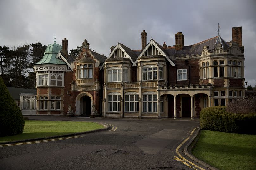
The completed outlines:
<svg viewBox="0 0 256 170">
<path fill-rule="evenodd" d="M 108 95 L 108 111 L 120 112 L 121 111 L 121 95 L 120 93 L 109 93 Z"/>
</svg>

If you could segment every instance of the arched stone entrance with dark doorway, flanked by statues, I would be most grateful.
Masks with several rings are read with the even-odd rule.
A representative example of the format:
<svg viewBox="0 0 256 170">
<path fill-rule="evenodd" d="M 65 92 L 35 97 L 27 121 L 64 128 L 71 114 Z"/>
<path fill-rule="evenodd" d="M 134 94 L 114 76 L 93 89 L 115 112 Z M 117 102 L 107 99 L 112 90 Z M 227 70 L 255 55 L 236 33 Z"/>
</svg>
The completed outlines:
<svg viewBox="0 0 256 170">
<path fill-rule="evenodd" d="M 87 99 L 90 98 L 91 102 L 86 103 L 86 98 Z M 87 100 L 87 102 L 88 101 L 89 100 Z M 88 107 L 91 107 L 91 109 L 89 109 Z M 76 113 L 75 113 L 76 115 L 83 115 L 84 113 L 88 112 L 89 110 L 91 110 L 91 112 L 92 112 L 93 111 L 93 96 L 90 93 L 85 92 L 85 91 L 79 93 L 76 97 L 76 100 L 75 100 L 75 108 L 76 108 Z M 84 111 L 84 109 L 86 109 L 86 110 Z M 81 113 L 81 112 L 83 112 L 83 113 Z M 89 114 L 89 113 L 86 113 L 86 115 L 87 114 Z"/>
</svg>

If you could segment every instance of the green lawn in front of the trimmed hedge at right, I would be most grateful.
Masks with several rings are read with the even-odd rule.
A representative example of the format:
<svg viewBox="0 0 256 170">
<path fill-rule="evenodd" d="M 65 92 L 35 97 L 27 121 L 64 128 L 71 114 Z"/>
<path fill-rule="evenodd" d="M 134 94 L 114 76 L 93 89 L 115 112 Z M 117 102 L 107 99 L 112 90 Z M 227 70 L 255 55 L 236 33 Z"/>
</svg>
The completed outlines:
<svg viewBox="0 0 256 170">
<path fill-rule="evenodd" d="M 219 169 L 256 169 L 256 135 L 202 130 L 192 154 Z"/>
</svg>

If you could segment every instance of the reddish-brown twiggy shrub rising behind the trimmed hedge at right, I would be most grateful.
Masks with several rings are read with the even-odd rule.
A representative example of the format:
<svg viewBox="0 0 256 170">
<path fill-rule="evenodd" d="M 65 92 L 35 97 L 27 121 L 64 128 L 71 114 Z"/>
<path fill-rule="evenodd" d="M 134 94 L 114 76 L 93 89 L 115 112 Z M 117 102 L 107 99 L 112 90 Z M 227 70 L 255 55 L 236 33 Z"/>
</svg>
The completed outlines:
<svg viewBox="0 0 256 170">
<path fill-rule="evenodd" d="M 242 99 L 235 99 L 228 102 L 227 112 L 231 113 L 256 113 L 256 96 L 247 96 Z"/>
</svg>

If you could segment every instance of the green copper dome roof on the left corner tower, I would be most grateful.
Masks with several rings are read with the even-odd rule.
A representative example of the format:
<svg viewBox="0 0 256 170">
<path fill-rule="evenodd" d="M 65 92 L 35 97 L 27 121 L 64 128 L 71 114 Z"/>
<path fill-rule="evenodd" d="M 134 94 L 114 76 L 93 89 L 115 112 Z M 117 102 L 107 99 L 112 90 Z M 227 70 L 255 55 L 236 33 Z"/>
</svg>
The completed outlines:
<svg viewBox="0 0 256 170">
<path fill-rule="evenodd" d="M 56 44 L 56 41 L 54 41 L 54 44 L 50 44 L 46 47 L 44 51 L 43 58 L 35 63 L 34 65 L 38 64 L 66 64 L 65 62 L 61 61 L 60 59 L 56 58 L 56 55 L 62 50 L 62 46 L 59 44 Z"/>
</svg>

